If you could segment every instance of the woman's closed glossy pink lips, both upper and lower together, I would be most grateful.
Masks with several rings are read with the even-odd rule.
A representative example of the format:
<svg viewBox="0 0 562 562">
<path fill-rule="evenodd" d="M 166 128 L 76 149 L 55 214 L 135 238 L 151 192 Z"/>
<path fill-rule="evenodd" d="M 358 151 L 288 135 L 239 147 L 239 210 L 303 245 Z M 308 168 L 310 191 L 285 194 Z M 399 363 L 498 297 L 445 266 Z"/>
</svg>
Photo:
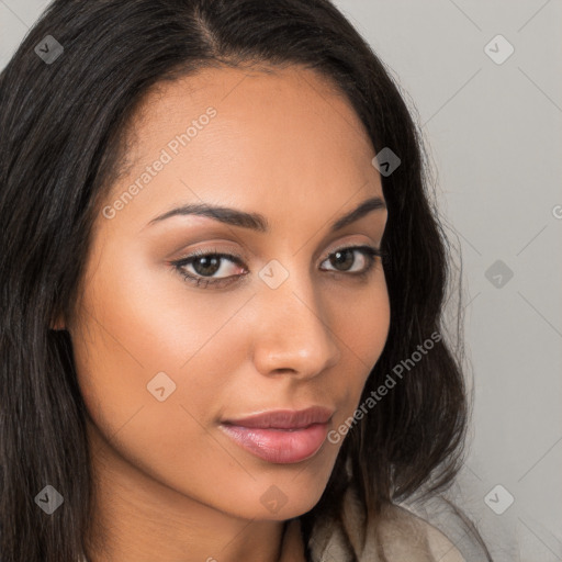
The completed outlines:
<svg viewBox="0 0 562 562">
<path fill-rule="evenodd" d="M 238 446 L 260 459 L 288 464 L 310 459 L 326 440 L 334 411 L 313 406 L 303 411 L 277 409 L 237 419 L 220 428 Z"/>
</svg>

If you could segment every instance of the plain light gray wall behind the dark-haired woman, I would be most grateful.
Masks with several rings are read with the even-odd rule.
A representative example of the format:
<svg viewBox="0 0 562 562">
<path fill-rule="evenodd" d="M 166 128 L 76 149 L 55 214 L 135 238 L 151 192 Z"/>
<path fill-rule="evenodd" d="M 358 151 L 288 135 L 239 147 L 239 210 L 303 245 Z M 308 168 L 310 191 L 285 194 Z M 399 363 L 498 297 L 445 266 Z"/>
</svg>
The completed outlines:
<svg viewBox="0 0 562 562">
<path fill-rule="evenodd" d="M 47 3 L 0 0 L 0 67 Z M 418 111 L 462 251 L 475 404 L 458 497 L 497 562 L 562 561 L 562 1 L 336 4 Z"/>
</svg>

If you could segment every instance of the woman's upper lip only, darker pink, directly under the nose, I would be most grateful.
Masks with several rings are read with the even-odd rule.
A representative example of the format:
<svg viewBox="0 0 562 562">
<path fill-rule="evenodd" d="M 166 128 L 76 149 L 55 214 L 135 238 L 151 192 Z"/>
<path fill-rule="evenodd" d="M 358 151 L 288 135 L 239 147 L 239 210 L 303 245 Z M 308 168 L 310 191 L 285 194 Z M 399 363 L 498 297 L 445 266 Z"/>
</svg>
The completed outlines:
<svg viewBox="0 0 562 562">
<path fill-rule="evenodd" d="M 225 419 L 224 424 L 260 429 L 302 429 L 312 424 L 325 424 L 334 414 L 324 406 L 306 409 L 271 409 L 244 418 Z"/>
</svg>

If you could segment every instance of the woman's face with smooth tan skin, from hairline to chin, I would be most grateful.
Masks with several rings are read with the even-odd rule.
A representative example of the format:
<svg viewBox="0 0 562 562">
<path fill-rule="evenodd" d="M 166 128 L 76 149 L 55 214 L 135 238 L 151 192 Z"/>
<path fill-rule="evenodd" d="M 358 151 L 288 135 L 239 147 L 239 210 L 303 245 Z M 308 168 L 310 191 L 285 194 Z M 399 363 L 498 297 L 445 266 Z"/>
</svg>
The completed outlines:
<svg viewBox="0 0 562 562">
<path fill-rule="evenodd" d="M 380 248 L 384 205 L 333 228 L 384 201 L 372 145 L 346 99 L 296 67 L 161 83 L 133 132 L 67 323 L 94 458 L 146 483 L 132 494 L 301 515 L 341 447 L 326 434 L 353 415 L 389 331 L 380 258 L 337 254 Z M 329 420 L 227 424 L 311 406 Z"/>
</svg>

